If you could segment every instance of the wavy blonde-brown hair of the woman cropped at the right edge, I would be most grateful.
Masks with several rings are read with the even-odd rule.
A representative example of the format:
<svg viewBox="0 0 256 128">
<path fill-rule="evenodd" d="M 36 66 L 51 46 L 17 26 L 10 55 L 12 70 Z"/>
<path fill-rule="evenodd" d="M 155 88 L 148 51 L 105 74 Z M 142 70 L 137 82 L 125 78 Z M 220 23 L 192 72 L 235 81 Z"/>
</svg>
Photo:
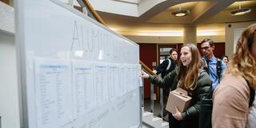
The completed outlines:
<svg viewBox="0 0 256 128">
<path fill-rule="evenodd" d="M 256 38 L 256 24 L 248 26 L 238 39 L 236 51 L 226 67 L 225 74 L 241 75 L 256 90 L 256 62 L 252 55 L 252 46 Z"/>
</svg>

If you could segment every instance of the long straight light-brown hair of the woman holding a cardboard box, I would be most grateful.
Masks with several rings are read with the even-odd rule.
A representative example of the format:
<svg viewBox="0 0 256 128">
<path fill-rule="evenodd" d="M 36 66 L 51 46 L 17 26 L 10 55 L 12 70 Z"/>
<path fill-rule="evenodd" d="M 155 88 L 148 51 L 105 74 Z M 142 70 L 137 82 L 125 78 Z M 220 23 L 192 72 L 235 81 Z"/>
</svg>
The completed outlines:
<svg viewBox="0 0 256 128">
<path fill-rule="evenodd" d="M 201 55 L 198 51 L 198 47 L 194 44 L 185 44 L 182 47 L 184 46 L 189 47 L 192 59 L 187 68 L 186 66 L 183 66 L 181 60 L 179 60 L 178 66 L 180 69 L 178 72 L 178 83 L 183 89 L 194 90 L 198 85 L 198 66 L 200 65 Z"/>
</svg>

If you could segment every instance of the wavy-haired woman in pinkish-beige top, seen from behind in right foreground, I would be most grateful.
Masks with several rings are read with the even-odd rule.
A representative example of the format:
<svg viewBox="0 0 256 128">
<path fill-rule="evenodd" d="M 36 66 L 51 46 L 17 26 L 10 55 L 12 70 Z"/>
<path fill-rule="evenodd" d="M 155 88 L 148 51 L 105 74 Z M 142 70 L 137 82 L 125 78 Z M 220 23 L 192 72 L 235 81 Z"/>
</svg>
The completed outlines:
<svg viewBox="0 0 256 128">
<path fill-rule="evenodd" d="M 256 24 L 242 32 L 222 82 L 214 90 L 213 128 L 255 128 L 255 100 L 250 107 L 251 99 L 254 98 L 254 95 L 250 95 L 255 89 Z"/>
</svg>

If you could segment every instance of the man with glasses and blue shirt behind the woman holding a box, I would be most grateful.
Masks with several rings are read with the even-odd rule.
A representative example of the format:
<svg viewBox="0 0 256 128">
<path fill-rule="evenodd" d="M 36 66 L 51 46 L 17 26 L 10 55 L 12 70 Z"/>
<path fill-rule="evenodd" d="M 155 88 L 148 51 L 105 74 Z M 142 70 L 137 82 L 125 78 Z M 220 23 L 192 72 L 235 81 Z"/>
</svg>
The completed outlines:
<svg viewBox="0 0 256 128">
<path fill-rule="evenodd" d="M 214 41 L 210 38 L 206 38 L 201 42 L 201 50 L 203 59 L 206 60 L 206 70 L 210 75 L 211 81 L 213 82 L 212 90 L 218 86 L 222 78 L 223 71 L 226 68 L 226 64 L 221 59 L 214 57 Z"/>
</svg>

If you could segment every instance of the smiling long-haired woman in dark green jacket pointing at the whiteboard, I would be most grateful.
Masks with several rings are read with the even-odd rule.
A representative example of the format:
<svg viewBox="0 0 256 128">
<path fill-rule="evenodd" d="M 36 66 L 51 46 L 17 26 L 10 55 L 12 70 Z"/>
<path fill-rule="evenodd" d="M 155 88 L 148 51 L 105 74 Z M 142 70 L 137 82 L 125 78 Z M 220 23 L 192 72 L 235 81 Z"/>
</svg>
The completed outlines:
<svg viewBox="0 0 256 128">
<path fill-rule="evenodd" d="M 141 77 L 150 82 L 175 90 L 180 87 L 186 90 L 192 98 L 190 106 L 180 112 L 176 108 L 175 114 L 169 113 L 170 128 L 198 128 L 200 100 L 203 95 L 210 94 L 211 80 L 206 70 L 202 70 L 201 56 L 197 46 L 186 44 L 182 46 L 178 67 L 166 74 L 164 78 L 154 77 L 142 71 Z"/>
</svg>

